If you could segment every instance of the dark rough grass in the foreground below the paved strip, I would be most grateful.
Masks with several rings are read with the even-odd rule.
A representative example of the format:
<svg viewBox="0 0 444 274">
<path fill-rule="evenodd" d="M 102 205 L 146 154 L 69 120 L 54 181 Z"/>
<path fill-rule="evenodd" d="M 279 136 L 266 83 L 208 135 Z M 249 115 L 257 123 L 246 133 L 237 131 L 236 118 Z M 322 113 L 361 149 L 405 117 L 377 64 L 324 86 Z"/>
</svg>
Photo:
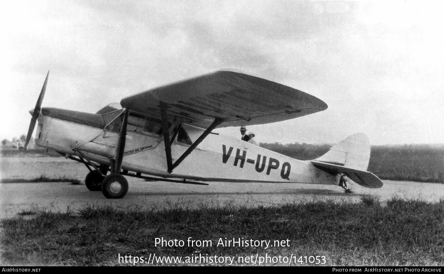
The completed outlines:
<svg viewBox="0 0 444 274">
<path fill-rule="evenodd" d="M 74 214 L 75 213 L 75 214 Z M 444 201 L 392 199 L 381 204 L 364 196 L 360 203 L 302 202 L 272 207 L 212 207 L 162 210 L 87 206 L 78 212 L 22 212 L 1 221 L 4 231 L 1 264 L 115 266 L 120 256 L 269 256 L 293 254 L 300 262 L 266 265 L 324 266 L 443 266 Z M 35 214 L 35 215 L 33 215 Z M 29 218 L 33 215 L 33 218 Z M 155 246 L 155 238 L 183 240 L 183 247 Z M 187 239 L 211 241 L 189 246 Z M 289 247 L 217 246 L 222 239 L 284 240 Z M 287 242 L 288 240 L 288 242 Z M 207 242 L 208 243 L 208 242 Z M 325 263 L 305 262 L 304 256 L 325 256 Z M 154 257 L 153 257 L 154 258 Z M 322 257 L 319 257 L 322 259 Z M 313 261 L 313 260 L 312 260 Z M 323 262 L 323 261 L 321 261 Z M 151 262 L 150 262 L 151 264 Z M 207 262 L 156 262 L 155 265 L 228 265 Z M 258 265 L 258 261 L 256 262 Z"/>
</svg>

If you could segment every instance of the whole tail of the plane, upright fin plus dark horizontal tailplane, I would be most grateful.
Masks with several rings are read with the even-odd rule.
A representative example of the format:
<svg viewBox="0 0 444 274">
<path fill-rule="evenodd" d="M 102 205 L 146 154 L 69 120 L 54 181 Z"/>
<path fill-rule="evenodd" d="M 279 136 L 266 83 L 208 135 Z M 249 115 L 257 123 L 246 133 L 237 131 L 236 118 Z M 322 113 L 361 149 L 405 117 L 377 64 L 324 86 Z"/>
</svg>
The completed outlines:
<svg viewBox="0 0 444 274">
<path fill-rule="evenodd" d="M 313 160 L 312 164 L 332 175 L 345 174 L 364 187 L 381 188 L 381 179 L 367 171 L 369 160 L 369 138 L 364 133 L 356 133 L 333 145 L 327 153 Z"/>
</svg>

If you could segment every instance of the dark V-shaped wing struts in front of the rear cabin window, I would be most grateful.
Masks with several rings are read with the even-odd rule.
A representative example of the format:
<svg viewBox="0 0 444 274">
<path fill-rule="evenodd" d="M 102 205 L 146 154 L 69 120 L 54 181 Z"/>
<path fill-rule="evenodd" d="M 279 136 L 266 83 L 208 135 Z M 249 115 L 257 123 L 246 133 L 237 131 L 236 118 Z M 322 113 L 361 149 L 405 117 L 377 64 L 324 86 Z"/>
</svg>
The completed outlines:
<svg viewBox="0 0 444 274">
<path fill-rule="evenodd" d="M 208 134 L 211 133 L 213 129 L 215 129 L 218 125 L 220 125 L 223 121 L 225 121 L 222 118 L 214 118 L 213 123 L 206 129 L 201 136 L 197 138 L 196 141 L 190 147 L 182 154 L 179 159 L 177 159 L 174 164 L 173 160 L 171 158 L 171 142 L 174 140 L 170 140 L 170 133 L 168 131 L 168 117 L 166 114 L 167 104 L 165 102 L 160 101 L 160 115 L 162 117 L 162 130 L 163 130 L 163 142 L 165 143 L 165 154 L 166 154 L 166 165 L 168 167 L 168 173 L 173 172 L 174 168 L 177 168 L 177 166 L 182 163 L 185 158 L 190 155 L 190 153 L 208 136 Z M 179 125 L 180 126 L 180 125 Z"/>
</svg>

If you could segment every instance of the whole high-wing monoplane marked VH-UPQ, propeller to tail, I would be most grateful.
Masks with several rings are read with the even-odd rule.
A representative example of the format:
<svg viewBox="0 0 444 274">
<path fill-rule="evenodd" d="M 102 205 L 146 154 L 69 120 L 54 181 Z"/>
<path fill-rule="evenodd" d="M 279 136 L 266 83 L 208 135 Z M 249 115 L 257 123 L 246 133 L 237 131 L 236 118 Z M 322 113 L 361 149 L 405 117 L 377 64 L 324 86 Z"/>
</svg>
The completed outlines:
<svg viewBox="0 0 444 274">
<path fill-rule="evenodd" d="M 48 75 L 49 71 L 30 111 L 25 149 L 38 121 L 36 145 L 85 164 L 86 187 L 107 198 L 127 194 L 125 176 L 187 184 L 268 182 L 343 188 L 346 176 L 364 187 L 382 186 L 367 171 L 370 144 L 364 133 L 353 134 L 317 159 L 303 161 L 213 132 L 327 109 L 325 102 L 289 86 L 215 71 L 128 96 L 93 114 L 41 107 Z"/>
</svg>

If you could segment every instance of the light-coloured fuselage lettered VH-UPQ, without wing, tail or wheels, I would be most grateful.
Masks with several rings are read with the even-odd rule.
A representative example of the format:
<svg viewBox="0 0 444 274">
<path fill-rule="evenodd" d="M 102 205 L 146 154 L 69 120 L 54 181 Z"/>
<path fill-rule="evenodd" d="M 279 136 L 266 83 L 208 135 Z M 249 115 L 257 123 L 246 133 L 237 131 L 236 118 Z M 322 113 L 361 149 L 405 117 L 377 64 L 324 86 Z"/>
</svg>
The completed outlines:
<svg viewBox="0 0 444 274">
<path fill-rule="evenodd" d="M 86 114 L 43 108 L 38 118 L 36 145 L 60 153 L 86 157 L 110 165 L 119 142 L 123 110 L 110 114 Z M 101 120 L 103 119 L 103 120 Z M 339 184 L 339 175 L 324 172 L 310 161 L 296 160 L 246 141 L 210 133 L 173 172 L 168 172 L 165 143 L 159 121 L 142 114 L 128 118 L 122 169 L 163 178 L 199 181 Z M 174 163 L 205 131 L 182 124 L 170 125 Z"/>
</svg>

